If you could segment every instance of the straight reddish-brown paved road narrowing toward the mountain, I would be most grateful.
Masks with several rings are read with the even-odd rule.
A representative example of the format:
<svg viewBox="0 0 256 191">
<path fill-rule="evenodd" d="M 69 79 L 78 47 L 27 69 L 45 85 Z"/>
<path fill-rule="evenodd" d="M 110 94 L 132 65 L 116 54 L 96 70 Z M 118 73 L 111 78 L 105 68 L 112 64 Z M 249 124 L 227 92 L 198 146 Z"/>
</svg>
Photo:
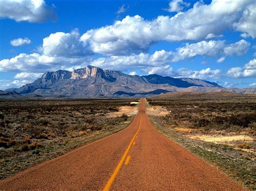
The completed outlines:
<svg viewBox="0 0 256 191">
<path fill-rule="evenodd" d="M 2 180 L 0 189 L 242 188 L 154 129 L 143 100 L 125 130 Z"/>
</svg>

